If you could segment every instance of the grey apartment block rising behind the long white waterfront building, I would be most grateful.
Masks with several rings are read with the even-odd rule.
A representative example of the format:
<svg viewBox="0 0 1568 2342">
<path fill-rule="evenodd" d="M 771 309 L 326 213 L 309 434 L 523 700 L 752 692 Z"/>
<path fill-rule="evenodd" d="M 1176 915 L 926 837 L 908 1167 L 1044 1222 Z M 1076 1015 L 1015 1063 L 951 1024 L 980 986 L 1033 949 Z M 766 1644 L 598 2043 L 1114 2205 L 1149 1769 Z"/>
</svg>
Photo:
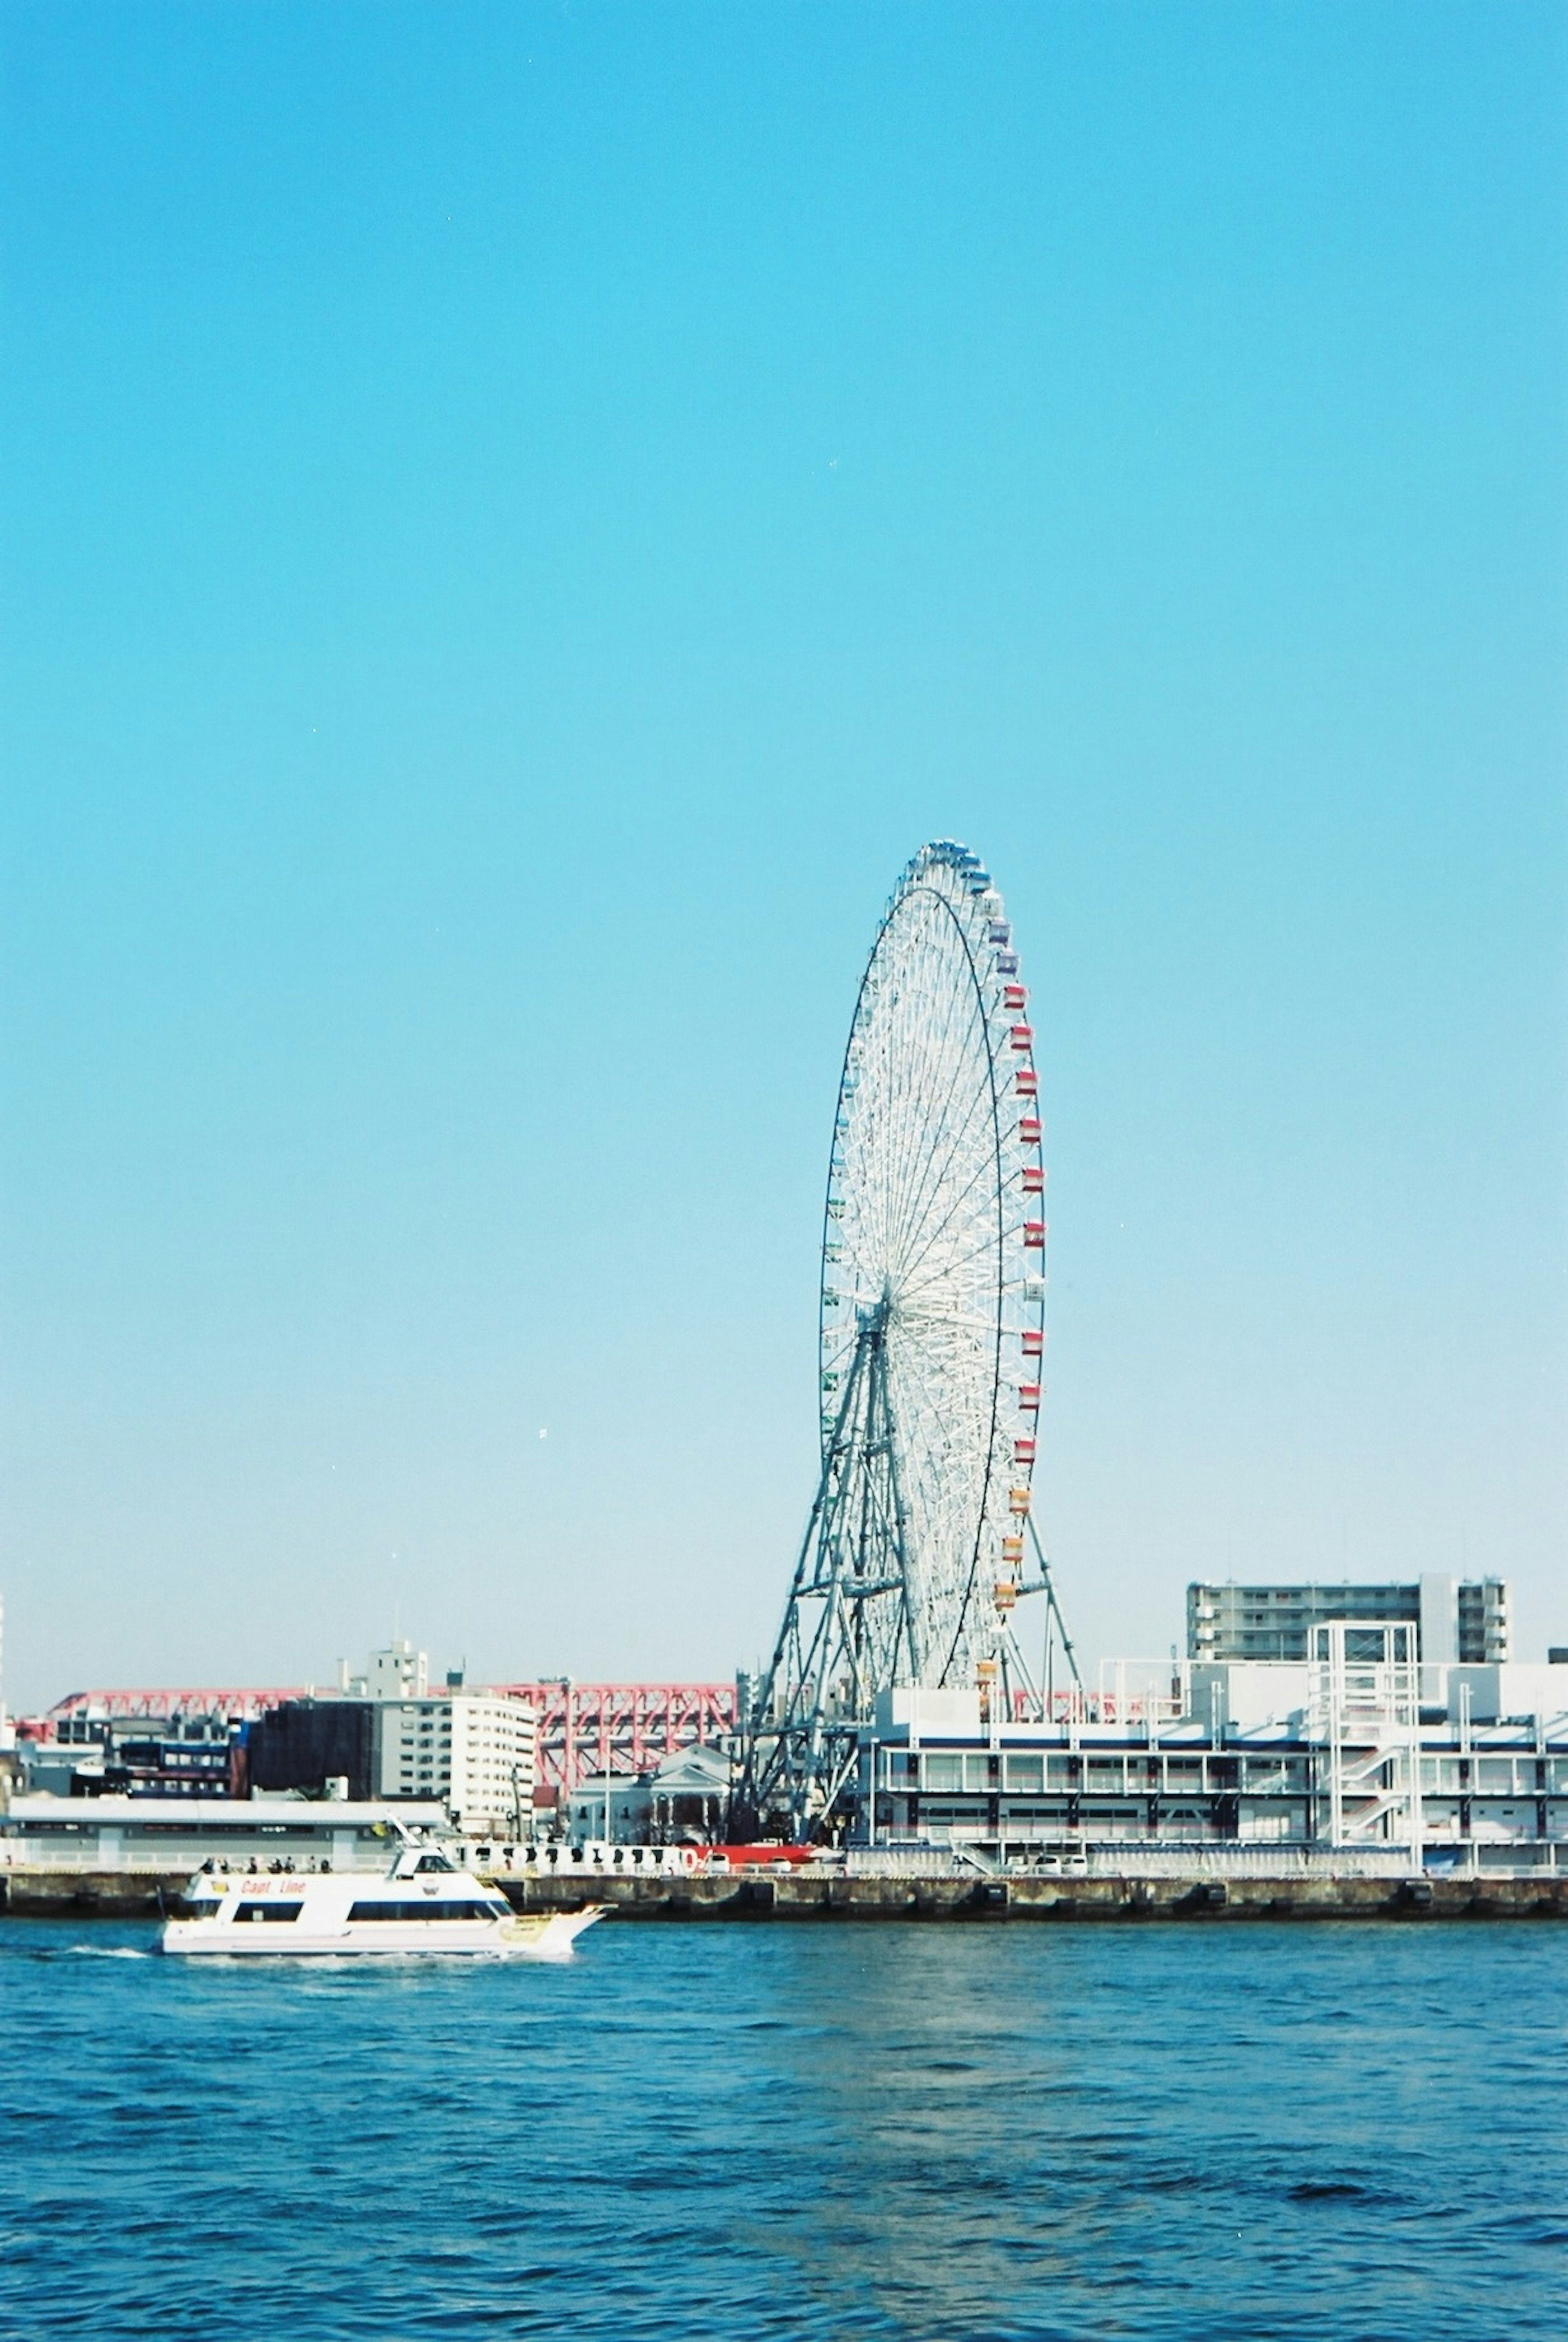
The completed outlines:
<svg viewBox="0 0 1568 2342">
<path fill-rule="evenodd" d="M 1456 1579 L 1439 1569 L 1376 1586 L 1194 1583 L 1187 1588 L 1187 1656 L 1304 1663 L 1313 1628 L 1336 1618 L 1414 1625 L 1428 1665 L 1493 1665 L 1509 1656 L 1507 1581 Z"/>
</svg>

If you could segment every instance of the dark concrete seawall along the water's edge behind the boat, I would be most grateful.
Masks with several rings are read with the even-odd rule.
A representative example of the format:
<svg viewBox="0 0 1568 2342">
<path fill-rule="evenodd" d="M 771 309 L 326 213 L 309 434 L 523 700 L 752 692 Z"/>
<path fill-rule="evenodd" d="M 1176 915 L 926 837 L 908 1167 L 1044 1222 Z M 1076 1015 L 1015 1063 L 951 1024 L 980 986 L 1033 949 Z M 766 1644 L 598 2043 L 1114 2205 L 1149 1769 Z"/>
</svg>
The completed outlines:
<svg viewBox="0 0 1568 2342">
<path fill-rule="evenodd" d="M 12 1918 L 157 1918 L 178 1904 L 187 1874 L 9 1871 Z M 1568 1920 L 1568 1881 L 1542 1878 L 498 1878 L 517 1911 L 611 1904 L 630 1920 L 955 1920 L 1154 1923 L 1238 1920 Z"/>
</svg>

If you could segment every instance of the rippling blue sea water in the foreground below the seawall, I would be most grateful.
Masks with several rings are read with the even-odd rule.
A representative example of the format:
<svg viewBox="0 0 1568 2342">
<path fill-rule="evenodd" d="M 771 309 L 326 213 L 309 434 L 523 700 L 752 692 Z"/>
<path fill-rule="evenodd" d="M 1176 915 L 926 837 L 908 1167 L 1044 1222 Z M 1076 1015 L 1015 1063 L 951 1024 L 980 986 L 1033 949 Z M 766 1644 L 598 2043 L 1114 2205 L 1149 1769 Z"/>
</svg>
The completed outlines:
<svg viewBox="0 0 1568 2342">
<path fill-rule="evenodd" d="M 0 1927 L 0 2333 L 1568 2335 L 1568 1927 Z"/>
</svg>

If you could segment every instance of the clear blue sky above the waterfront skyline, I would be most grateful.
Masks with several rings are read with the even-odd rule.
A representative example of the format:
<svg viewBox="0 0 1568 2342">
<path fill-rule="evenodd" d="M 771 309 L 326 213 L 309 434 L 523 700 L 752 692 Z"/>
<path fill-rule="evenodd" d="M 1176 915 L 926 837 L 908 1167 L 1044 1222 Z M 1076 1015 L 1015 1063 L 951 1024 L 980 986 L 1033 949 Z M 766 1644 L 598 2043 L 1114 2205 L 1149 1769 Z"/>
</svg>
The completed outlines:
<svg viewBox="0 0 1568 2342">
<path fill-rule="evenodd" d="M 0 26 L 12 1705 L 749 1660 L 931 834 L 1086 1649 L 1568 1642 L 1568 14 Z"/>
</svg>

